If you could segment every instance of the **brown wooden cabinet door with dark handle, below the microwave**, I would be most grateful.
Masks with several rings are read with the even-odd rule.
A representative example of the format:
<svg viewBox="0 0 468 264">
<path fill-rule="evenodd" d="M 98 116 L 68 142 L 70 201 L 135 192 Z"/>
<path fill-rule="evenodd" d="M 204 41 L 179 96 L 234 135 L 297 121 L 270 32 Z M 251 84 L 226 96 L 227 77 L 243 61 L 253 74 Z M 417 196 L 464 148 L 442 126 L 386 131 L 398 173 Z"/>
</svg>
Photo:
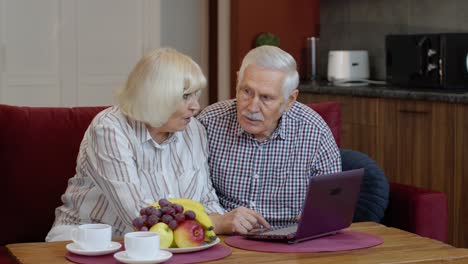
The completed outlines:
<svg viewBox="0 0 468 264">
<path fill-rule="evenodd" d="M 447 194 L 452 243 L 459 232 L 454 207 L 455 108 L 449 103 L 381 99 L 378 143 L 389 181 Z"/>
</svg>

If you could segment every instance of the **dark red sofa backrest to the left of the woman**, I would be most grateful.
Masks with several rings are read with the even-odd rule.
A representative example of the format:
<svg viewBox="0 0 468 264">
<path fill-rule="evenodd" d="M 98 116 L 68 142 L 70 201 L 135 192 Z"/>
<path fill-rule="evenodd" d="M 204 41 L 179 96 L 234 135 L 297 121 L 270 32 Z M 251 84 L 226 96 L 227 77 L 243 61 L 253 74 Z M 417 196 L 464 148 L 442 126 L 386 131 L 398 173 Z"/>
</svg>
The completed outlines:
<svg viewBox="0 0 468 264">
<path fill-rule="evenodd" d="M 84 132 L 102 109 L 0 105 L 0 245 L 44 241 Z"/>
</svg>

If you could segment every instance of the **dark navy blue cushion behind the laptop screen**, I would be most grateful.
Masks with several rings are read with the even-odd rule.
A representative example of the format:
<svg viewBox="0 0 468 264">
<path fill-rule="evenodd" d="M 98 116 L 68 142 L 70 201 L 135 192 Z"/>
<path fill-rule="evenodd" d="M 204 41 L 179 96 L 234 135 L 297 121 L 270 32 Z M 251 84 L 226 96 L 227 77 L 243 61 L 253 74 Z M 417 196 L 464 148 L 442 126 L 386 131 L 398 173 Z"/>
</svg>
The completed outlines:
<svg viewBox="0 0 468 264">
<path fill-rule="evenodd" d="M 353 222 L 380 222 L 388 205 L 389 187 L 387 177 L 377 163 L 364 153 L 341 149 L 343 171 L 364 168 L 359 200 Z"/>
</svg>

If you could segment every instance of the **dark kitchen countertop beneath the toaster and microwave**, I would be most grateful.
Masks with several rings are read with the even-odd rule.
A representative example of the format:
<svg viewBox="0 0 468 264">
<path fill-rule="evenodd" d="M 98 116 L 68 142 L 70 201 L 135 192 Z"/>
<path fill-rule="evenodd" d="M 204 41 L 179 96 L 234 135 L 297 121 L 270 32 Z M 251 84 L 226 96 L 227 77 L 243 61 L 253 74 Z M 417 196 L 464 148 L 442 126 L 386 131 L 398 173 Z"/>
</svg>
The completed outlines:
<svg viewBox="0 0 468 264">
<path fill-rule="evenodd" d="M 443 89 L 409 90 L 402 87 L 387 85 L 343 87 L 307 81 L 299 84 L 299 91 L 301 93 L 399 98 L 468 104 L 468 89 L 465 91 L 448 91 Z"/>
</svg>

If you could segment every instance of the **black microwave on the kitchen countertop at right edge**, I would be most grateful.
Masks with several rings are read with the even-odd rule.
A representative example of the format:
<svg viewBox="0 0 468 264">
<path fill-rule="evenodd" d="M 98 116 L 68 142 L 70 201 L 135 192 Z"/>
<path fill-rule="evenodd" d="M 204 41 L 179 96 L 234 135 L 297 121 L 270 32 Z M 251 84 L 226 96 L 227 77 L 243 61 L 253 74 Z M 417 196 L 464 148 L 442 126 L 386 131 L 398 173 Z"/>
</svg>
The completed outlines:
<svg viewBox="0 0 468 264">
<path fill-rule="evenodd" d="M 385 51 L 390 84 L 468 90 L 468 33 L 387 35 Z"/>
</svg>

